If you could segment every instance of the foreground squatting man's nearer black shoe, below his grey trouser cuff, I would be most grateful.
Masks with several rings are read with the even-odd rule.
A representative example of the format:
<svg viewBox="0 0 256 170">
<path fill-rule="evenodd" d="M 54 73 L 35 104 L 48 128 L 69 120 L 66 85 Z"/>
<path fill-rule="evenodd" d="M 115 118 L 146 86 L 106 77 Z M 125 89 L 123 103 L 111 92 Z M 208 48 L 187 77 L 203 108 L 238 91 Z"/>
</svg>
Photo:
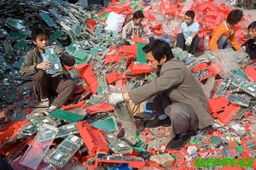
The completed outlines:
<svg viewBox="0 0 256 170">
<path fill-rule="evenodd" d="M 167 149 L 169 150 L 177 150 L 182 148 L 185 144 L 189 142 L 190 135 L 181 135 L 177 134 L 174 139 L 172 139 L 168 144 L 167 144 Z"/>
</svg>

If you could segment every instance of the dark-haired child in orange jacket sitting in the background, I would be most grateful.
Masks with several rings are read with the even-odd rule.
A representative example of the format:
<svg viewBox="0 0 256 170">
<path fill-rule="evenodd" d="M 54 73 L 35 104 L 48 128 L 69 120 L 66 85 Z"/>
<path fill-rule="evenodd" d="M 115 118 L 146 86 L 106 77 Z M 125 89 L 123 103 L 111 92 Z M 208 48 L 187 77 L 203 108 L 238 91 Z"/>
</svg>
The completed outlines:
<svg viewBox="0 0 256 170">
<path fill-rule="evenodd" d="M 236 41 L 235 25 L 241 20 L 242 10 L 234 9 L 228 15 L 226 22 L 219 25 L 212 32 L 212 39 L 209 43 L 211 51 L 218 49 L 234 48 L 236 51 L 240 50 L 240 45 Z"/>
</svg>

